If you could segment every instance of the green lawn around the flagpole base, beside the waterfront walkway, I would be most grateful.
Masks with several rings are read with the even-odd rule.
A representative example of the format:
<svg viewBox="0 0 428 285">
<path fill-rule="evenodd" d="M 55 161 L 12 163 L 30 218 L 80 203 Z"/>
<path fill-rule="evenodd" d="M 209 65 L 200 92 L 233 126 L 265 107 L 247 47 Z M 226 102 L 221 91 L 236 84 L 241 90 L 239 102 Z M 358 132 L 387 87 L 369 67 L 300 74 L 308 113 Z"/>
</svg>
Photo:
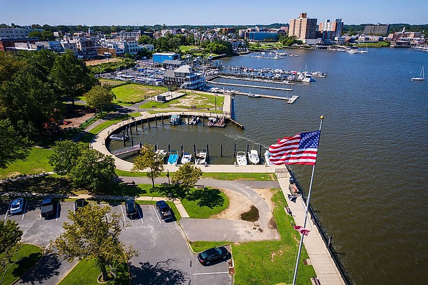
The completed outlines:
<svg viewBox="0 0 428 285">
<path fill-rule="evenodd" d="M 295 258 L 300 236 L 291 226 L 292 217 L 284 211 L 287 205 L 281 190 L 275 192 L 272 200 L 275 203 L 274 217 L 281 240 L 250 241 L 232 243 L 236 274 L 235 284 L 291 284 L 293 279 Z M 195 252 L 201 252 L 225 242 L 196 241 L 192 242 Z M 308 255 L 303 247 L 297 275 L 298 284 L 310 285 L 310 278 L 315 276 L 312 265 L 303 265 Z"/>
</svg>

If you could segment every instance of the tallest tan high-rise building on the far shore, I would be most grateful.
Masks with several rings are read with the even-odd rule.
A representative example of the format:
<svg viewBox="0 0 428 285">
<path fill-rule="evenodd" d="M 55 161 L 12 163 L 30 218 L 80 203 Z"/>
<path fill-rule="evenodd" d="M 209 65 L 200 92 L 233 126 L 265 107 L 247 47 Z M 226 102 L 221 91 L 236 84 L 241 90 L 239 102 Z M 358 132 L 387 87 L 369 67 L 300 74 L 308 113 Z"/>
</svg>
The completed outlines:
<svg viewBox="0 0 428 285">
<path fill-rule="evenodd" d="M 298 39 L 302 40 L 304 43 L 306 42 L 314 42 L 315 41 L 307 41 L 307 39 L 316 39 L 317 32 L 317 21 L 316 18 L 307 18 L 306 13 L 300 13 L 298 19 L 290 19 L 290 26 L 288 29 L 289 36 L 296 36 Z"/>
</svg>

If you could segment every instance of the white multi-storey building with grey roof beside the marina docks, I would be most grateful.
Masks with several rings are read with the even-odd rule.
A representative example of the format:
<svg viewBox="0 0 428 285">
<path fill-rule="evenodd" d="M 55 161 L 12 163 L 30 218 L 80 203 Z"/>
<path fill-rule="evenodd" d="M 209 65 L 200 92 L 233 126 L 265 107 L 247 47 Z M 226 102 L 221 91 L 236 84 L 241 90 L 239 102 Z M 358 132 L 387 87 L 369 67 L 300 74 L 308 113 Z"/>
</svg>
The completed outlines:
<svg viewBox="0 0 428 285">
<path fill-rule="evenodd" d="M 164 84 L 169 87 L 195 89 L 205 85 L 205 76 L 190 65 L 182 65 L 175 70 L 165 71 Z"/>
</svg>

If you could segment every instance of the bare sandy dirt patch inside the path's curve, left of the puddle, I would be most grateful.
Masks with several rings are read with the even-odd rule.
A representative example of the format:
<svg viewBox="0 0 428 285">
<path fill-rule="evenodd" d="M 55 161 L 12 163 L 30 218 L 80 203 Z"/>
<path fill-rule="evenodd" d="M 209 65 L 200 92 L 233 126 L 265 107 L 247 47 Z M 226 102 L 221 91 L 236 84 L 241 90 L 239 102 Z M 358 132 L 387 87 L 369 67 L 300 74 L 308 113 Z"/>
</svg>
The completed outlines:
<svg viewBox="0 0 428 285">
<path fill-rule="evenodd" d="M 229 207 L 211 218 L 240 220 L 241 215 L 251 209 L 253 203 L 243 194 L 229 189 L 221 189 L 221 191 L 229 198 Z"/>
</svg>

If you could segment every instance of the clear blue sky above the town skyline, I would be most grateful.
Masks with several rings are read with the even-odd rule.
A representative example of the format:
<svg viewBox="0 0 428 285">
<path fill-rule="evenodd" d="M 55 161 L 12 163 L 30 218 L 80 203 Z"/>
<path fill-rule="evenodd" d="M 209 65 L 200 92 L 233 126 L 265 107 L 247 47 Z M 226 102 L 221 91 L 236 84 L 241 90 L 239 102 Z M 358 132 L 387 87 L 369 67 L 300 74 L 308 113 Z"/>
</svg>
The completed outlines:
<svg viewBox="0 0 428 285">
<path fill-rule="evenodd" d="M 323 4 L 325 3 L 325 4 Z M 345 24 L 427 24 L 428 1 L 171 1 L 171 0 L 0 0 L 0 22 L 17 25 L 247 25 L 309 18 L 342 18 Z"/>
</svg>

